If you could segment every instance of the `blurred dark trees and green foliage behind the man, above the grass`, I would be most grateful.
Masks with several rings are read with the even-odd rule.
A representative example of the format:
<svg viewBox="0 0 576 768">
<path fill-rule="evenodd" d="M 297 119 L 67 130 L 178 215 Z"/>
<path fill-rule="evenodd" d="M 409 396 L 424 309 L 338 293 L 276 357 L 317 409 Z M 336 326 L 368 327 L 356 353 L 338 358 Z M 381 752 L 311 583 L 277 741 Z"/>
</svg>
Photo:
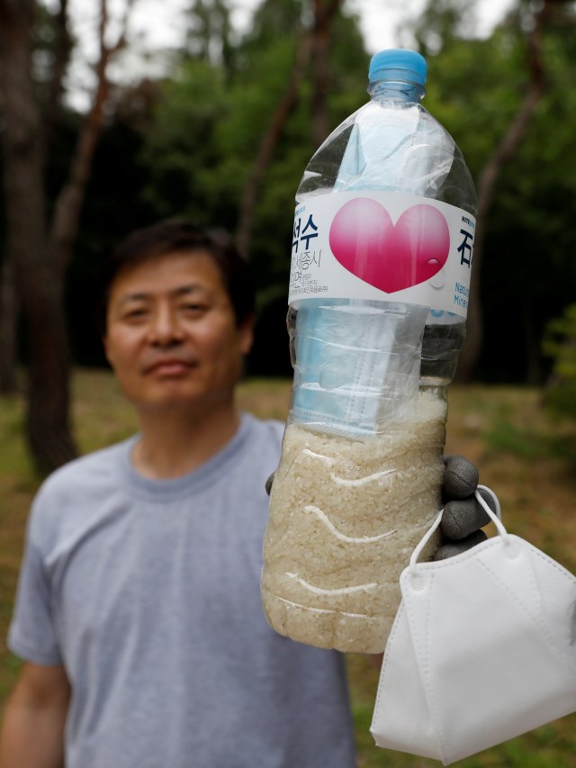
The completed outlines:
<svg viewBox="0 0 576 768">
<path fill-rule="evenodd" d="M 262 0 L 244 32 L 233 0 L 190 0 L 184 46 L 153 61 L 130 35 L 139 0 L 117 0 L 113 14 L 108 0 L 84 0 L 90 45 L 74 36 L 74 2 L 0 0 L 0 393 L 25 386 L 40 472 L 76 454 L 70 369 L 104 364 L 95 276 L 135 227 L 184 215 L 233 232 L 257 278 L 248 372 L 292 374 L 294 193 L 320 142 L 368 98 L 369 54 L 346 0 Z M 481 5 L 429 0 L 404 25 L 428 59 L 424 105 L 479 192 L 459 376 L 543 387 L 570 412 L 576 4 L 517 0 L 479 39 Z M 75 67 L 88 73 L 80 90 Z"/>
</svg>

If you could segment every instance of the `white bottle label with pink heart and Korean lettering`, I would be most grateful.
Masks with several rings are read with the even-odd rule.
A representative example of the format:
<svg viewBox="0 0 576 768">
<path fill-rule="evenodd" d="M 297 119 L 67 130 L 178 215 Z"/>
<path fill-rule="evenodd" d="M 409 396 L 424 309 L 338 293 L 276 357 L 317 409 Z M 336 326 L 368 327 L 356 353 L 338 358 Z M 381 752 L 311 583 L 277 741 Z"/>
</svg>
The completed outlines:
<svg viewBox="0 0 576 768">
<path fill-rule="evenodd" d="M 395 192 L 341 192 L 296 206 L 289 303 L 365 299 L 466 317 L 476 220 Z"/>
</svg>

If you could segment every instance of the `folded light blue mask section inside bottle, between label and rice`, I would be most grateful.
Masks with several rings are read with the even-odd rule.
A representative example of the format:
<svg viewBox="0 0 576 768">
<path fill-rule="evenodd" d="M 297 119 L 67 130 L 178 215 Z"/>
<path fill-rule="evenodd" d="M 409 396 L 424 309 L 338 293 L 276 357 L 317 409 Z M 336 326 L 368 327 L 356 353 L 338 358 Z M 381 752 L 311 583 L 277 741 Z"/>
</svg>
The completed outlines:
<svg viewBox="0 0 576 768">
<path fill-rule="evenodd" d="M 428 307 L 360 304 L 302 304 L 291 420 L 360 438 L 415 411 Z"/>
</svg>

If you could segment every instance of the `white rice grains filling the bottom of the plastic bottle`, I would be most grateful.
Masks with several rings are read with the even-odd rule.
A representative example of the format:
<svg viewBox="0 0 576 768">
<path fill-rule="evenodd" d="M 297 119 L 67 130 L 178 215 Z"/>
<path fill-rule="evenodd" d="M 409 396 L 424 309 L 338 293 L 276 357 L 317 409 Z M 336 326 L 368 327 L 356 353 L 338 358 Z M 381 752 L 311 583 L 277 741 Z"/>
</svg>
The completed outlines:
<svg viewBox="0 0 576 768">
<path fill-rule="evenodd" d="M 383 651 L 401 572 L 440 508 L 445 438 L 446 402 L 429 393 L 414 419 L 374 438 L 286 427 L 262 574 L 277 632 L 323 648 Z"/>
</svg>

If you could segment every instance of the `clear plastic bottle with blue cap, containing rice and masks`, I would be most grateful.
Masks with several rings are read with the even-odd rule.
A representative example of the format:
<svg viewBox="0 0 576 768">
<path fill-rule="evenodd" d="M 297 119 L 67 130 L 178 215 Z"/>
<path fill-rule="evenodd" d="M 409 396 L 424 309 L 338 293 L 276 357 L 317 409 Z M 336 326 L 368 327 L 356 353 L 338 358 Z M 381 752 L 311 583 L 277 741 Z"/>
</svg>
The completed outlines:
<svg viewBox="0 0 576 768">
<path fill-rule="evenodd" d="M 293 393 L 262 599 L 276 631 L 342 651 L 383 651 L 401 571 L 441 505 L 476 194 L 420 104 L 426 75 L 415 51 L 375 54 L 370 102 L 320 146 L 296 195 Z"/>
</svg>

